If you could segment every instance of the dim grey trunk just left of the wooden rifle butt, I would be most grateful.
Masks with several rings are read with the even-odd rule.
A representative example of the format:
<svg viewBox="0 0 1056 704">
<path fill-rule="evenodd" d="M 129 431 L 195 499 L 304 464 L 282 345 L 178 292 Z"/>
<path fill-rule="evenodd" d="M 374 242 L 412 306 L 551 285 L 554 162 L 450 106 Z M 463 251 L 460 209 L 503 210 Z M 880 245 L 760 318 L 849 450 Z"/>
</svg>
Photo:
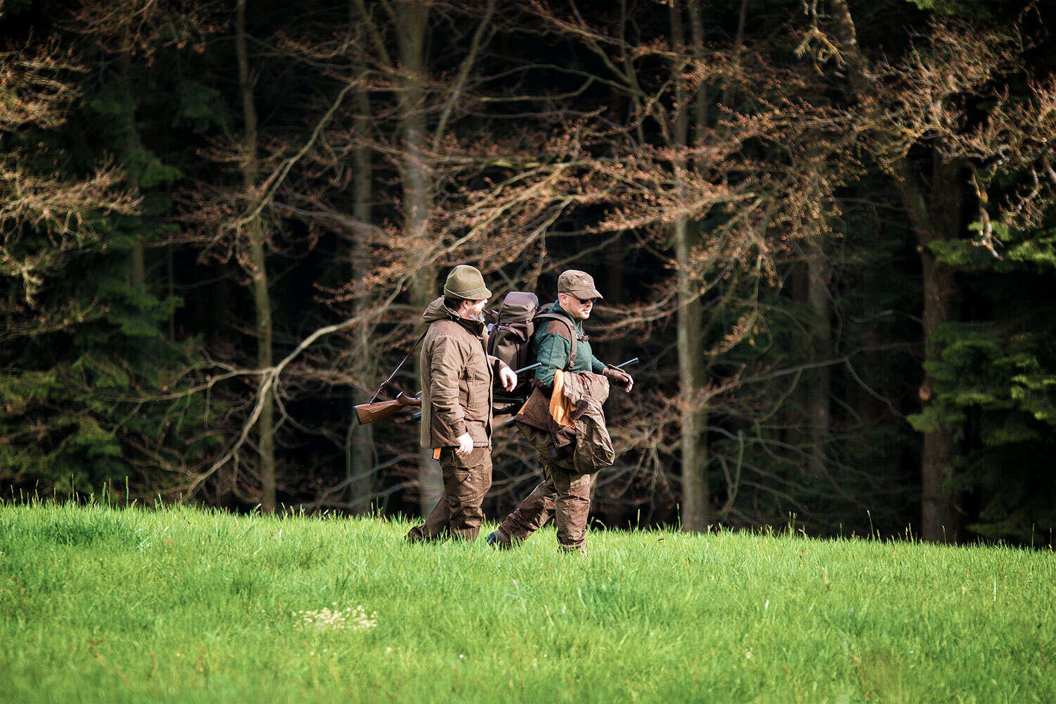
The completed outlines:
<svg viewBox="0 0 1056 704">
<path fill-rule="evenodd" d="M 356 134 L 365 139 L 370 134 L 371 103 L 365 91 L 360 91 L 356 95 Z M 359 145 L 355 152 L 356 175 L 353 188 L 355 189 L 355 203 L 353 205 L 353 215 L 356 221 L 362 223 L 361 227 L 353 236 L 352 245 L 352 279 L 361 281 L 369 270 L 370 244 L 367 242 L 367 230 L 365 225 L 371 222 L 371 198 L 373 165 L 371 164 L 371 149 L 365 144 Z M 362 313 L 371 305 L 370 297 L 365 292 L 360 292 L 356 297 L 356 312 Z M 373 325 L 369 321 L 362 321 L 353 331 L 355 345 L 355 359 L 361 360 L 363 364 L 363 375 L 366 378 L 373 377 L 374 354 L 371 345 L 371 331 Z M 353 394 L 353 405 L 366 403 L 370 401 L 370 393 L 357 389 Z M 362 514 L 370 511 L 371 498 L 374 494 L 374 425 L 358 425 L 352 423 L 355 433 L 352 438 L 351 461 L 347 467 L 348 474 L 348 501 L 353 513 Z"/>
</svg>

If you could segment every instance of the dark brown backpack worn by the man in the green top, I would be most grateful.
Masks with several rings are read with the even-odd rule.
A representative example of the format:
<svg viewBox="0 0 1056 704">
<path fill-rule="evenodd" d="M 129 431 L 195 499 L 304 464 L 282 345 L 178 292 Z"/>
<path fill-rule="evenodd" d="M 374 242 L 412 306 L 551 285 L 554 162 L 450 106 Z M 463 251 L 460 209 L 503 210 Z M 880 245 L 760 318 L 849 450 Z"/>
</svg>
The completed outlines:
<svg viewBox="0 0 1056 704">
<path fill-rule="evenodd" d="M 574 341 L 578 338 L 574 323 L 560 313 L 539 312 L 539 297 L 528 291 L 510 291 L 503 299 L 497 322 L 488 325 L 488 354 L 509 364 L 511 369 L 523 369 L 535 361 L 531 354 L 531 338 L 535 334 L 536 321 L 547 319 L 560 320 L 568 326 L 568 334 L 573 342 L 565 368 L 571 369 L 576 361 Z M 530 394 L 532 377 L 530 374 L 520 375 L 512 394 Z"/>
</svg>

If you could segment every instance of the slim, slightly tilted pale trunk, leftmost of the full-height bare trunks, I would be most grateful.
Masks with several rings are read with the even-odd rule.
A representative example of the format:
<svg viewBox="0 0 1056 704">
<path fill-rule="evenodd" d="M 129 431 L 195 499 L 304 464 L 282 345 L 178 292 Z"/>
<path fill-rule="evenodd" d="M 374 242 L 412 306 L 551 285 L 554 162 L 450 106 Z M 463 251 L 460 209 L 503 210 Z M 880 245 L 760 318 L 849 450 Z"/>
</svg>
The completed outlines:
<svg viewBox="0 0 1056 704">
<path fill-rule="evenodd" d="M 249 76 L 246 53 L 246 0 L 239 0 L 235 13 L 235 53 L 239 60 L 239 90 L 242 94 L 242 117 L 245 122 L 243 139 L 242 185 L 247 196 L 257 190 L 257 109 L 253 107 L 253 87 Z M 249 259 L 252 270 L 253 306 L 257 311 L 257 367 L 272 365 L 271 301 L 268 294 L 267 266 L 264 252 L 264 226 L 259 216 L 246 225 L 249 241 Z M 275 471 L 275 407 L 269 393 L 261 410 L 259 427 L 261 508 L 272 513 L 276 509 Z"/>
</svg>

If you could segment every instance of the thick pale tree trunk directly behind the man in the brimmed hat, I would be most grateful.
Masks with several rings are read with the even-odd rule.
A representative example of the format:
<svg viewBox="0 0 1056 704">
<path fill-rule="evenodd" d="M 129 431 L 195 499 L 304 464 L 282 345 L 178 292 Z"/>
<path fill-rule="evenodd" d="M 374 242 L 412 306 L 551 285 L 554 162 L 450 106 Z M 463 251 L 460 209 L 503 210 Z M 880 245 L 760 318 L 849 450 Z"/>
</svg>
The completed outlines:
<svg viewBox="0 0 1056 704">
<path fill-rule="evenodd" d="M 400 120 L 404 156 L 401 165 L 403 182 L 404 235 L 412 251 L 428 251 L 429 217 L 432 210 L 432 174 L 426 151 L 426 33 L 429 7 L 425 0 L 403 3 L 399 16 L 399 55 L 403 70 L 400 94 Z M 422 266 L 410 283 L 411 304 L 425 309 L 435 294 L 436 272 Z M 420 358 L 415 355 L 415 370 L 421 379 Z M 427 449 L 418 451 L 419 507 L 429 513 L 444 494 L 440 468 Z"/>
</svg>

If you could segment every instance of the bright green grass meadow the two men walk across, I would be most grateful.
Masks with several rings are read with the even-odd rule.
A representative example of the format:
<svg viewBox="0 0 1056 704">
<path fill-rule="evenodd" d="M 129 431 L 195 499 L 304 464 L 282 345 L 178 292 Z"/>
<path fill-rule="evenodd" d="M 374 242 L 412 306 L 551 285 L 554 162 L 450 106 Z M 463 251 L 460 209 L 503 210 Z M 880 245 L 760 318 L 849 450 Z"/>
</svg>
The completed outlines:
<svg viewBox="0 0 1056 704">
<path fill-rule="evenodd" d="M 408 528 L 2 505 L 0 700 L 1056 701 L 1049 551 Z M 358 606 L 376 626 L 301 625 Z"/>
</svg>

